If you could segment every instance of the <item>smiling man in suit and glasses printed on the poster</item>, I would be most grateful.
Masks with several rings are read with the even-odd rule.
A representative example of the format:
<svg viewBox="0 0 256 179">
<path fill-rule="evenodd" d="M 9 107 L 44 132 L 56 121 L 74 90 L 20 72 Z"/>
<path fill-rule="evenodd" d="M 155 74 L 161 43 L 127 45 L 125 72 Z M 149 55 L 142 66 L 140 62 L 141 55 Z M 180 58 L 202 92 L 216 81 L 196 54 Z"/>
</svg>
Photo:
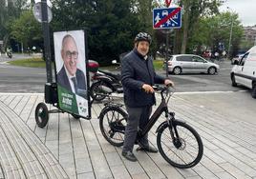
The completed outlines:
<svg viewBox="0 0 256 179">
<path fill-rule="evenodd" d="M 75 39 L 67 34 L 62 39 L 61 57 L 64 65 L 57 73 L 57 84 L 77 95 L 86 94 L 85 76 L 77 69 L 78 50 Z"/>
</svg>

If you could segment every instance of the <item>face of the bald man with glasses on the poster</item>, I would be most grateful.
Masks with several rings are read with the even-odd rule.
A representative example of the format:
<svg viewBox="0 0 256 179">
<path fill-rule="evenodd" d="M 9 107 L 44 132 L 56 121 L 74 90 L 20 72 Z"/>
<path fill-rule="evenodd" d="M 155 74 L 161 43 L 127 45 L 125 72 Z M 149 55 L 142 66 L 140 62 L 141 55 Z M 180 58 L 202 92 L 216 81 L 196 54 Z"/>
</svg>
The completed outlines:
<svg viewBox="0 0 256 179">
<path fill-rule="evenodd" d="M 63 50 L 61 50 L 61 56 L 66 69 L 72 76 L 74 76 L 76 72 L 78 51 L 73 38 L 67 38 L 64 41 L 64 47 Z"/>
</svg>

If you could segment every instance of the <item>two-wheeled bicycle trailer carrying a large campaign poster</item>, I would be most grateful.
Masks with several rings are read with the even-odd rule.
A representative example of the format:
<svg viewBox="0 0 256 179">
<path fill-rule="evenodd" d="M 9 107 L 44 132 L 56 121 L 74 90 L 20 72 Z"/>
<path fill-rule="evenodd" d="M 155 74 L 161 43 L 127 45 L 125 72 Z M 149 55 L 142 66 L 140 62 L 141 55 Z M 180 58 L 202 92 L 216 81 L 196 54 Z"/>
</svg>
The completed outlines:
<svg viewBox="0 0 256 179">
<path fill-rule="evenodd" d="M 89 60 L 83 30 L 58 31 L 54 39 L 55 82 L 46 83 L 45 102 L 35 109 L 35 121 L 44 128 L 50 113 L 68 112 L 75 119 L 91 119 Z M 48 109 L 46 104 L 56 109 Z"/>
</svg>

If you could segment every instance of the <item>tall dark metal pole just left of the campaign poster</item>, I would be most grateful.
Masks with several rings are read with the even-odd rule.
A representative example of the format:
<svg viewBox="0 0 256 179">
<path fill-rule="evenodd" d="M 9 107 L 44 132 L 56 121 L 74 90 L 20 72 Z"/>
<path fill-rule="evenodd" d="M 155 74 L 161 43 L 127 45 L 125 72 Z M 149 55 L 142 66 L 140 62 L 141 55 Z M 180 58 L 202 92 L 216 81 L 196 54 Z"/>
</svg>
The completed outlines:
<svg viewBox="0 0 256 179">
<path fill-rule="evenodd" d="M 48 11 L 46 0 L 41 0 L 42 3 L 42 26 L 44 35 L 44 58 L 46 62 L 46 75 L 47 83 L 53 82 L 52 60 L 51 60 L 51 45 L 50 45 L 50 32 L 48 23 Z"/>
</svg>

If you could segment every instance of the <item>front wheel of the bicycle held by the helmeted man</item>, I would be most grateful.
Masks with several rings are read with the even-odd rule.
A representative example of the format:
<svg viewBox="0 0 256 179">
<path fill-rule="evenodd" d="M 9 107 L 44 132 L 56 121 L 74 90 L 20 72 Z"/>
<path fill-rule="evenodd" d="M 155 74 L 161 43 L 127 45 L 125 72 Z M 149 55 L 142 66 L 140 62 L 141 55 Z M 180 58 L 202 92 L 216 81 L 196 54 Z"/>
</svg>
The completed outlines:
<svg viewBox="0 0 256 179">
<path fill-rule="evenodd" d="M 172 129 L 168 125 L 163 126 L 158 132 L 157 144 L 161 156 L 176 168 L 192 168 L 203 156 L 200 135 L 188 124 L 180 121 L 173 121 Z"/>
</svg>

